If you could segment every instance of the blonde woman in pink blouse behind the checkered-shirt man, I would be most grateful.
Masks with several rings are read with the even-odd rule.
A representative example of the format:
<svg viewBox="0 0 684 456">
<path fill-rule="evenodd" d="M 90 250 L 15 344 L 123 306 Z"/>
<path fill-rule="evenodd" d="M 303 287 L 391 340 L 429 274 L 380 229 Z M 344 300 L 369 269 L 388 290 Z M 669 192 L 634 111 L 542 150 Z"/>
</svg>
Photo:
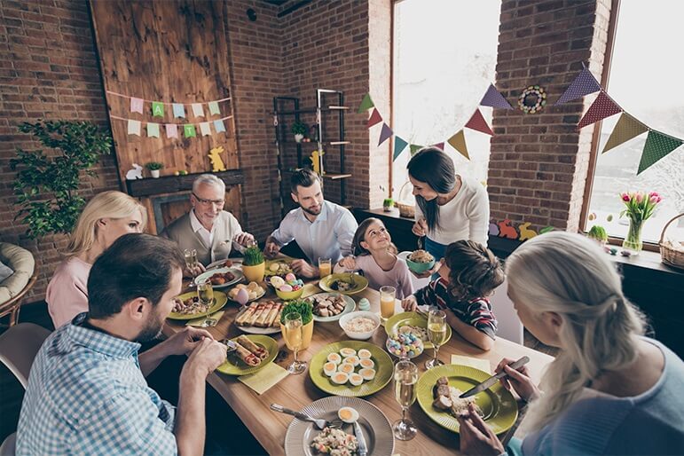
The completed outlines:
<svg viewBox="0 0 684 456">
<path fill-rule="evenodd" d="M 83 208 L 45 295 L 55 328 L 88 311 L 88 275 L 99 254 L 123 234 L 143 232 L 146 222 L 145 208 L 126 193 L 98 193 Z"/>
</svg>

